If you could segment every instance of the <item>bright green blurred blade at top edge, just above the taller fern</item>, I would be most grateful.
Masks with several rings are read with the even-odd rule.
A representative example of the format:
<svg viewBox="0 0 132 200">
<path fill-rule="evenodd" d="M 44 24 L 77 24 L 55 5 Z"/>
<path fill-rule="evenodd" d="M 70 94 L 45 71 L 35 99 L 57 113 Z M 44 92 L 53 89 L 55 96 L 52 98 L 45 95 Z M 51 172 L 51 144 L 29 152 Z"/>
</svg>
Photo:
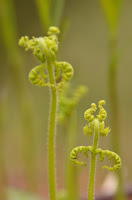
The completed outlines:
<svg viewBox="0 0 132 200">
<path fill-rule="evenodd" d="M 39 17 L 43 24 L 44 31 L 48 31 L 51 25 L 51 1 L 50 0 L 35 0 L 38 7 Z"/>
</svg>

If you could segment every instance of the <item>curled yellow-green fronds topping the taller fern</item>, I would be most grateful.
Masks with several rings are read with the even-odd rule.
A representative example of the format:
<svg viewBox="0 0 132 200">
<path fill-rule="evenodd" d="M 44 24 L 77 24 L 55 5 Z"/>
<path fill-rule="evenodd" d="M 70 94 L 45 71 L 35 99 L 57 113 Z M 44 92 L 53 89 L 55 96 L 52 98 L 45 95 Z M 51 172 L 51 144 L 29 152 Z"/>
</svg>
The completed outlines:
<svg viewBox="0 0 132 200">
<path fill-rule="evenodd" d="M 24 47 L 25 50 L 32 50 L 33 55 L 41 61 L 41 64 L 33 68 L 29 73 L 29 80 L 32 84 L 38 86 L 48 86 L 62 91 L 66 82 L 68 82 L 73 75 L 73 68 L 67 62 L 58 62 L 56 59 L 56 52 L 58 51 L 58 34 L 59 29 L 50 27 L 48 36 L 29 39 L 28 36 L 21 37 L 19 45 Z M 51 63 L 52 66 L 49 64 Z M 54 85 L 50 82 L 49 71 L 50 68 L 55 71 Z M 44 70 L 47 71 L 44 73 Z M 60 80 L 57 82 L 57 80 Z"/>
</svg>

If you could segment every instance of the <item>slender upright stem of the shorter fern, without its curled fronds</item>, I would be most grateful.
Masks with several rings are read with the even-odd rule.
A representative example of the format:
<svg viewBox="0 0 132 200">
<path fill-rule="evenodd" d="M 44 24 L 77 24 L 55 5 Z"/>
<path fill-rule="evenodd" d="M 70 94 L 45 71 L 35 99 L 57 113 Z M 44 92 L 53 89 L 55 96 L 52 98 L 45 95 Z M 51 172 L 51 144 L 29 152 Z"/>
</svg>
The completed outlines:
<svg viewBox="0 0 132 200">
<path fill-rule="evenodd" d="M 98 119 L 94 120 L 94 124 L 95 124 L 95 133 L 94 133 L 93 149 L 94 149 L 94 151 L 96 151 L 96 149 L 98 147 L 98 134 L 99 134 Z M 93 197 L 94 197 L 95 170 L 96 170 L 96 154 L 94 152 L 93 154 L 91 154 L 91 168 L 90 168 L 90 178 L 89 178 L 88 200 L 93 200 Z"/>
</svg>

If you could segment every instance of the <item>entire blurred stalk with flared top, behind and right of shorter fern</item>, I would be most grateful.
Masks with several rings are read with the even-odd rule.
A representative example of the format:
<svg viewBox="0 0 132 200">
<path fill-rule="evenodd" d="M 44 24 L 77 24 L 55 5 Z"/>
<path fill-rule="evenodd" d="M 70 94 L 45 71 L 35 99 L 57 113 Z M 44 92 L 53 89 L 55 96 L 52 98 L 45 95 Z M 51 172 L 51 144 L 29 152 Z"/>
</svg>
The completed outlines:
<svg viewBox="0 0 132 200">
<path fill-rule="evenodd" d="M 117 93 L 117 67 L 118 67 L 118 29 L 119 29 L 119 18 L 122 0 L 112 1 L 101 0 L 101 5 L 104 10 L 105 17 L 107 19 L 108 30 L 109 30 L 109 71 L 108 71 L 108 90 L 111 101 L 111 113 L 112 113 L 112 140 L 111 144 L 114 150 L 120 153 L 119 140 L 119 101 Z M 124 200 L 123 194 L 123 180 L 121 170 L 118 172 L 118 189 L 116 199 Z"/>
</svg>

